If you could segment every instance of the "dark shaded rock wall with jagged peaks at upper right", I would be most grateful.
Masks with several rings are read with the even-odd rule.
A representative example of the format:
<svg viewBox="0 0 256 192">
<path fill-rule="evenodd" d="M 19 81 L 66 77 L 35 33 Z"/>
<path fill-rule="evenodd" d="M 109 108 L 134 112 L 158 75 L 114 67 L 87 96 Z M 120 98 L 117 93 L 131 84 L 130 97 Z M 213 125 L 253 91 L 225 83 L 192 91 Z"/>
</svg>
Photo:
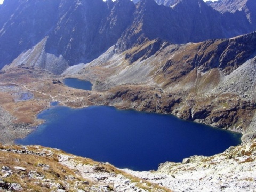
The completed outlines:
<svg viewBox="0 0 256 192">
<path fill-rule="evenodd" d="M 117 53 L 160 38 L 175 44 L 230 38 L 256 30 L 241 12 L 225 13 L 212 9 L 203 0 L 177 0 L 172 7 L 154 0 L 137 3 L 134 19 L 116 44 Z"/>
</svg>

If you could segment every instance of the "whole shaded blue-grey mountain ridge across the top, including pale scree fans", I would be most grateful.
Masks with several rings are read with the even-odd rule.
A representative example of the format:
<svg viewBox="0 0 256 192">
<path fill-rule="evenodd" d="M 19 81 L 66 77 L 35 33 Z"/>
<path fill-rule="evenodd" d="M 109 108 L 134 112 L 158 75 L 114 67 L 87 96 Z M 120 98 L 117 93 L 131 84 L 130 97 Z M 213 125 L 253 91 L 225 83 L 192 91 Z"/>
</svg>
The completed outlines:
<svg viewBox="0 0 256 192">
<path fill-rule="evenodd" d="M 254 4 L 247 6 L 251 15 L 247 18 L 241 12 L 222 14 L 202 0 L 175 3 L 167 7 L 154 0 L 136 5 L 130 0 L 17 0 L 15 4 L 7 0 L 0 10 L 0 66 L 15 60 L 16 65 L 25 63 L 61 74 L 68 66 L 92 61 L 113 45 L 121 54 L 156 39 L 183 44 L 256 30 Z M 42 43 L 38 59 L 28 54 Z"/>
</svg>

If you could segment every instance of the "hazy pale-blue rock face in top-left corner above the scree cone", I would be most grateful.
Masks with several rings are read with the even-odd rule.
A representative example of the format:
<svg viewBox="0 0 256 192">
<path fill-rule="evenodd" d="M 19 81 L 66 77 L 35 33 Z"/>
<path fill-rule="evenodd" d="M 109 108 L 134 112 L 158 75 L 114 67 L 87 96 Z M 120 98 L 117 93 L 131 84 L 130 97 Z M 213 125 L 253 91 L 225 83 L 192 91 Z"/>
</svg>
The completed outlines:
<svg viewBox="0 0 256 192">
<path fill-rule="evenodd" d="M 41 41 L 55 23 L 60 0 L 4 1 L 0 7 L 0 68 Z"/>
</svg>

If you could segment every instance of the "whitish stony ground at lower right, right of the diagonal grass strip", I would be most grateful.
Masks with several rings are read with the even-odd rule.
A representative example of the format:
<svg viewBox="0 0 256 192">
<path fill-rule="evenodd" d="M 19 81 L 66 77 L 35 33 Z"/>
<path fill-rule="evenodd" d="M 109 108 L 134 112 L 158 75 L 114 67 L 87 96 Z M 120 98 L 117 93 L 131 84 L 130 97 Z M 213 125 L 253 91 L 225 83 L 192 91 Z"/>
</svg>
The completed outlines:
<svg viewBox="0 0 256 192">
<path fill-rule="evenodd" d="M 256 191 L 256 140 L 211 157 L 166 162 L 155 172 L 126 170 L 173 191 Z"/>
</svg>

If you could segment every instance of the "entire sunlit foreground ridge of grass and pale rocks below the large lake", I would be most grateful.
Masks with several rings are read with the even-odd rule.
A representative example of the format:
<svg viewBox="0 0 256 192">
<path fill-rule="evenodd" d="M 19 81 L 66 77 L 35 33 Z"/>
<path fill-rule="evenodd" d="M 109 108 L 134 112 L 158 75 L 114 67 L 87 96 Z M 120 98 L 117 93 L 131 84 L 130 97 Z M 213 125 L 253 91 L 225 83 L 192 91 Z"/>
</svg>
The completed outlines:
<svg viewBox="0 0 256 192">
<path fill-rule="evenodd" d="M 255 191 L 256 140 L 156 171 L 117 169 L 41 146 L 0 146 L 1 191 Z"/>
</svg>

